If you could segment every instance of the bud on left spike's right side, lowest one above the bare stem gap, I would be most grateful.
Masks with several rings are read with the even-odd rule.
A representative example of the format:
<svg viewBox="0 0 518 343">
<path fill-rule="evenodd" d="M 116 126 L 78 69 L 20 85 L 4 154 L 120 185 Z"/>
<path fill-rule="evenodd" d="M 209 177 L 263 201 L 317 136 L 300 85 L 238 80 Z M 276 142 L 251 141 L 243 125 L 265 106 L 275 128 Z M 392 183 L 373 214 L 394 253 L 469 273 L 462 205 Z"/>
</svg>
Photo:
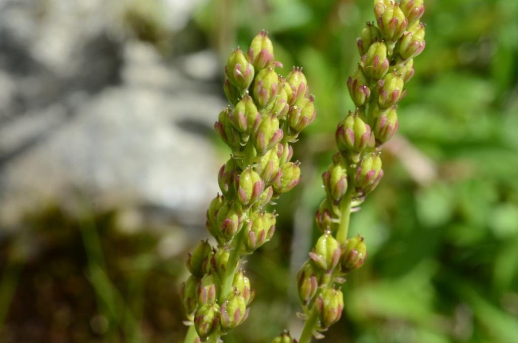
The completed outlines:
<svg viewBox="0 0 518 343">
<path fill-rule="evenodd" d="M 248 252 L 253 252 L 270 240 L 275 232 L 275 222 L 275 215 L 272 213 L 254 212 L 250 215 L 250 222 L 244 233 Z"/>
</svg>

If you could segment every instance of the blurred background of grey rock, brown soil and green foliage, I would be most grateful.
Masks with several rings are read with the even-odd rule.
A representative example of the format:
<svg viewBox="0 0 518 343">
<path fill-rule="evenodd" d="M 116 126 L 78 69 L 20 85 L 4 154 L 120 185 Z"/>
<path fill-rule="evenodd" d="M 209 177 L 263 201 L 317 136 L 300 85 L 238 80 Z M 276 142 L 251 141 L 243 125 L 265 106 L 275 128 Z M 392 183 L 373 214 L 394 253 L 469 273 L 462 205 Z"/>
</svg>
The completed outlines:
<svg viewBox="0 0 518 343">
<path fill-rule="evenodd" d="M 518 2 L 425 3 L 399 136 L 352 217 L 368 259 L 324 342 L 518 342 Z M 223 66 L 261 28 L 317 117 L 225 342 L 298 334 L 295 274 L 372 18 L 370 0 L 0 1 L 1 340 L 182 341 L 185 256 L 229 152 Z"/>
</svg>

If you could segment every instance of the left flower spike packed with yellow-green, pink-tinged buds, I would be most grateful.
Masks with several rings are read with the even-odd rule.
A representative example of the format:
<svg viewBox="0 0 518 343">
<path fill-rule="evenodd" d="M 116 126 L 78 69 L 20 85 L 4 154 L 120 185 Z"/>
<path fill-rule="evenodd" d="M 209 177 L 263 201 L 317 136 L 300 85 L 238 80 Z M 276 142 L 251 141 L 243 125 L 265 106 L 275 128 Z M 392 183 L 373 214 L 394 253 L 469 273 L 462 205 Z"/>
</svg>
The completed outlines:
<svg viewBox="0 0 518 343">
<path fill-rule="evenodd" d="M 315 118 L 314 96 L 301 68 L 283 78 L 279 65 L 261 31 L 248 53 L 233 50 L 225 66 L 232 107 L 220 112 L 214 128 L 232 154 L 218 173 L 221 195 L 212 199 L 206 221 L 217 247 L 203 241 L 190 254 L 191 276 L 182 285 L 186 313 L 202 340 L 247 318 L 254 292 L 239 259 L 270 240 L 277 215 L 266 205 L 300 182 L 291 144 Z"/>
</svg>

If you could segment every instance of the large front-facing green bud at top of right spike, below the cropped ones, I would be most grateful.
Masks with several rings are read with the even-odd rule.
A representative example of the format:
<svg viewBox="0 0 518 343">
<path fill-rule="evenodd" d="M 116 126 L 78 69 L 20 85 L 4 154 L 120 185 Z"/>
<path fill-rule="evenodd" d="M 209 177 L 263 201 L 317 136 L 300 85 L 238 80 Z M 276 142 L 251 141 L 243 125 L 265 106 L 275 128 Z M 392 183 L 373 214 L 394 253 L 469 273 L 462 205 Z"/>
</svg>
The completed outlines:
<svg viewBox="0 0 518 343">
<path fill-rule="evenodd" d="M 386 40 L 395 42 L 408 26 L 408 19 L 399 4 L 389 0 L 374 0 L 374 14 Z"/>
</svg>

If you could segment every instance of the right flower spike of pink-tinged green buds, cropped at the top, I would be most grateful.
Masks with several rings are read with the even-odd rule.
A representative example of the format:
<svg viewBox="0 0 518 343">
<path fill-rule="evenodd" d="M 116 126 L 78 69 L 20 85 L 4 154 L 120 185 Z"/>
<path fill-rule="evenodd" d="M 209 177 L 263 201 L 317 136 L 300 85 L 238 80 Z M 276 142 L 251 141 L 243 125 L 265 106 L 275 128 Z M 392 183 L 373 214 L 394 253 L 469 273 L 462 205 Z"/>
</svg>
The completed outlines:
<svg viewBox="0 0 518 343">
<path fill-rule="evenodd" d="M 367 256 L 361 235 L 347 239 L 349 216 L 383 177 L 381 147 L 397 131 L 397 104 L 414 74 L 413 58 L 425 47 L 423 0 L 374 0 L 374 13 L 376 22 L 357 40 L 360 63 L 347 80 L 355 110 L 338 123 L 339 151 L 322 174 L 326 198 L 315 214 L 322 235 L 298 273 L 305 314 L 318 316 L 315 335 L 340 319 L 343 296 L 335 283 Z"/>
</svg>

